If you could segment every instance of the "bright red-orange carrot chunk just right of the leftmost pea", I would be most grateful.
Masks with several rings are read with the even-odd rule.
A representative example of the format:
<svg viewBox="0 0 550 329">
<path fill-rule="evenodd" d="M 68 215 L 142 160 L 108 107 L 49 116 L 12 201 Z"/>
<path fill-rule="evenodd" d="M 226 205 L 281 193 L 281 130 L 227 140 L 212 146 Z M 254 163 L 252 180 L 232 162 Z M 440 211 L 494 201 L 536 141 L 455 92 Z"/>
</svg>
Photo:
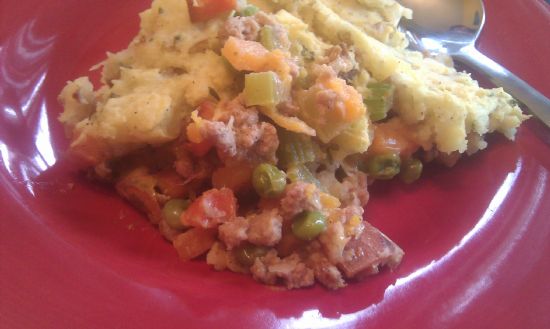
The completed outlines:
<svg viewBox="0 0 550 329">
<path fill-rule="evenodd" d="M 237 215 L 237 199 L 228 188 L 211 189 L 181 214 L 181 223 L 185 226 L 214 228 Z"/>
</svg>

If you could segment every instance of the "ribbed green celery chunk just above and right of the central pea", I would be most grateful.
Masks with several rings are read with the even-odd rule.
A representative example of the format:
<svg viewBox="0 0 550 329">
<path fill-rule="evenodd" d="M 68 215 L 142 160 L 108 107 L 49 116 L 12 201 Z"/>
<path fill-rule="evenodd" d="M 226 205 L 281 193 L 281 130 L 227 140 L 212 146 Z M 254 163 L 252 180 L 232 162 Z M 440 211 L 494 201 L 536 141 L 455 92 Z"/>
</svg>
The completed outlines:
<svg viewBox="0 0 550 329">
<path fill-rule="evenodd" d="M 309 136 L 280 129 L 279 148 L 277 149 L 279 165 L 282 168 L 289 168 L 293 164 L 314 161 L 316 158 L 315 146 Z"/>
</svg>

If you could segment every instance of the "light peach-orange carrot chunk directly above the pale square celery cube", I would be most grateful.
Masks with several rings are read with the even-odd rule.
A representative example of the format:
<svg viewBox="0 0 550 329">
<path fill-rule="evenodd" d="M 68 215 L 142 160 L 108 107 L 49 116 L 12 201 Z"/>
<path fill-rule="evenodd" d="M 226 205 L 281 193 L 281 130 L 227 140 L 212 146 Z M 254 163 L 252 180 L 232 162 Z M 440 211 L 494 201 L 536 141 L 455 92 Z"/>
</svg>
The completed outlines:
<svg viewBox="0 0 550 329">
<path fill-rule="evenodd" d="M 256 41 L 229 37 L 222 48 L 222 55 L 239 71 L 264 70 L 269 51 Z"/>
</svg>

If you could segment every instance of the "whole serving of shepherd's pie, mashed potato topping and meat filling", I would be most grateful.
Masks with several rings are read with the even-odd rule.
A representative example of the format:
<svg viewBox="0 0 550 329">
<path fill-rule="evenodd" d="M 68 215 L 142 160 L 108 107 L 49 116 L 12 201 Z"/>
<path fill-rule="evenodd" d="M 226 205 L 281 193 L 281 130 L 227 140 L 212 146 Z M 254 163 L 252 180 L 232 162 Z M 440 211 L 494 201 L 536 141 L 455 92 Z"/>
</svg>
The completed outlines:
<svg viewBox="0 0 550 329">
<path fill-rule="evenodd" d="M 407 50 L 394 0 L 154 0 L 138 35 L 59 95 L 69 155 L 182 260 L 288 288 L 396 267 L 367 185 L 513 139 L 502 89 Z"/>
</svg>

